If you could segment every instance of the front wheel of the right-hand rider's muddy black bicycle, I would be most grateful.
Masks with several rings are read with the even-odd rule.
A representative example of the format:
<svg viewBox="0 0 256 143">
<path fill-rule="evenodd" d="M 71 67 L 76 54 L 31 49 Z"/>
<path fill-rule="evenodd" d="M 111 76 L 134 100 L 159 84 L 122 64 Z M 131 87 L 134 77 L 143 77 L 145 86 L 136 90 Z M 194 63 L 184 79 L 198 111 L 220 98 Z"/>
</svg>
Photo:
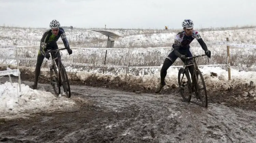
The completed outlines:
<svg viewBox="0 0 256 143">
<path fill-rule="evenodd" d="M 207 97 L 207 90 L 205 86 L 205 82 L 203 79 L 203 75 L 199 69 L 196 71 L 196 90 L 198 97 L 201 100 L 201 106 L 207 107 L 208 106 L 208 97 Z"/>
</svg>

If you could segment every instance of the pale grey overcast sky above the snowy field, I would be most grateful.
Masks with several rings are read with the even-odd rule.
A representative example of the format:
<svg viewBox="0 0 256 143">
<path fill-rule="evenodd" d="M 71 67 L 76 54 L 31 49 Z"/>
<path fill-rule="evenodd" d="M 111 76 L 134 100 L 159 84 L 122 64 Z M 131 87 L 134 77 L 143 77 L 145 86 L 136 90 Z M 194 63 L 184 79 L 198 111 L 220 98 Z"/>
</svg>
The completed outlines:
<svg viewBox="0 0 256 143">
<path fill-rule="evenodd" d="M 0 0 L 0 25 L 96 28 L 195 28 L 256 25 L 256 0 Z"/>
</svg>

